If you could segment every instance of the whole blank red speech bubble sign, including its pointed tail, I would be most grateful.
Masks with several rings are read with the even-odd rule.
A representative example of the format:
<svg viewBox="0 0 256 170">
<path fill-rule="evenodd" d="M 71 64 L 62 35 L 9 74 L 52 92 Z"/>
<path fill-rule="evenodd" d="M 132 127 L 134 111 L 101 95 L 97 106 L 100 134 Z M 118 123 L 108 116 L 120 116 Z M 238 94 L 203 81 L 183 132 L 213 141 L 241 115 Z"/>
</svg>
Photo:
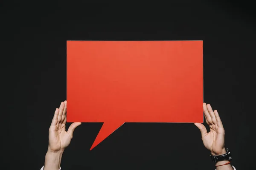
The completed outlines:
<svg viewBox="0 0 256 170">
<path fill-rule="evenodd" d="M 67 41 L 67 122 L 203 122 L 203 41 Z"/>
</svg>

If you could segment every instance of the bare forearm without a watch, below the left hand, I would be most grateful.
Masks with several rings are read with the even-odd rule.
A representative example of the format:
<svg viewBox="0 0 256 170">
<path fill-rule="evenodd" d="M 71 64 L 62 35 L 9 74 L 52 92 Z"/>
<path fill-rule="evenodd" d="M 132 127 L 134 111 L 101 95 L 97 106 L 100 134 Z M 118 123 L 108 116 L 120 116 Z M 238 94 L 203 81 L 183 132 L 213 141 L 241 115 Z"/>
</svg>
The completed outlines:
<svg viewBox="0 0 256 170">
<path fill-rule="evenodd" d="M 45 155 L 44 170 L 59 170 L 62 154 L 63 151 L 51 152 L 48 150 Z"/>
</svg>

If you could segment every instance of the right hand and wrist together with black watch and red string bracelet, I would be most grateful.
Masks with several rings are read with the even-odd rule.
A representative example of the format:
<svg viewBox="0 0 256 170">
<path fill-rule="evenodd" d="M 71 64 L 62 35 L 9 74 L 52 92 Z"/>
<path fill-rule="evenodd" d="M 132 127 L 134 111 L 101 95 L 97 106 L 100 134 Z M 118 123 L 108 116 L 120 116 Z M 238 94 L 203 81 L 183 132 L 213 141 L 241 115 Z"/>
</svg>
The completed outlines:
<svg viewBox="0 0 256 170">
<path fill-rule="evenodd" d="M 225 131 L 217 110 L 213 111 L 210 104 L 203 104 L 204 116 L 210 131 L 201 123 L 195 123 L 201 131 L 204 146 L 210 151 L 211 159 L 217 170 L 234 170 L 230 150 L 225 148 Z"/>
</svg>

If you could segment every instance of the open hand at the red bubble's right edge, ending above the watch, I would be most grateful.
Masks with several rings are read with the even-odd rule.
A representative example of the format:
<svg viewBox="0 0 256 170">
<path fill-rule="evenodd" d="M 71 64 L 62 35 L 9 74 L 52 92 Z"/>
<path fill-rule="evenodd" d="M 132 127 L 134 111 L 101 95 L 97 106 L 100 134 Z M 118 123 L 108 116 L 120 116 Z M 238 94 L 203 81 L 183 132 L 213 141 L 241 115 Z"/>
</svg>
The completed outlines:
<svg viewBox="0 0 256 170">
<path fill-rule="evenodd" d="M 225 131 L 218 112 L 217 110 L 212 111 L 211 105 L 206 105 L 206 103 L 204 103 L 203 109 L 210 131 L 207 133 L 207 129 L 201 123 L 195 123 L 195 125 L 201 131 L 204 146 L 210 150 L 212 155 L 225 154 Z"/>
</svg>

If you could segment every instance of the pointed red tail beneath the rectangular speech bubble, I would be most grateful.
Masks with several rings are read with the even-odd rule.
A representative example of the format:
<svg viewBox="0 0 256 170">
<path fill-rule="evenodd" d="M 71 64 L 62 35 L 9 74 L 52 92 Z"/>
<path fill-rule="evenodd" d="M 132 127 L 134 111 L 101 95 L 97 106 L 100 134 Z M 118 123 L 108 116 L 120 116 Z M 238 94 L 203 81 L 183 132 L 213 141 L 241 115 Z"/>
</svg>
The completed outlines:
<svg viewBox="0 0 256 170">
<path fill-rule="evenodd" d="M 118 129 L 123 124 L 124 124 L 124 122 L 122 122 L 122 123 L 120 123 L 120 122 L 105 122 L 105 123 L 103 123 L 90 150 L 92 150 L 94 147 L 96 147 L 100 142 L 102 142 L 104 139 L 106 139 L 109 135 L 111 135 L 111 133 L 113 133 L 116 129 Z"/>
</svg>

